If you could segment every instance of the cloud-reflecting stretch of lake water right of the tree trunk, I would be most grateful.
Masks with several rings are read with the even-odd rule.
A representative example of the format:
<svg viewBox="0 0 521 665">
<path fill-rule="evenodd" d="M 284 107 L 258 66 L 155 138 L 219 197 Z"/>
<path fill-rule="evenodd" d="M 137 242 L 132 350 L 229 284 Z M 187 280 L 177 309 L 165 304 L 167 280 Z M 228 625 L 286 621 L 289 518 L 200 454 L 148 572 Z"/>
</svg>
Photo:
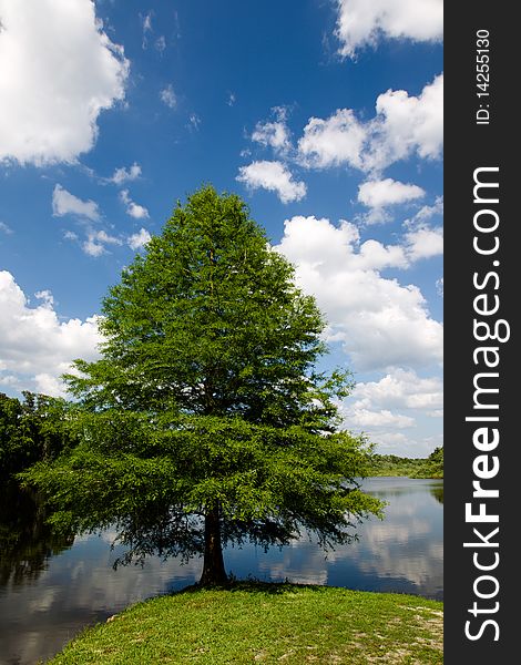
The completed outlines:
<svg viewBox="0 0 521 665">
<path fill-rule="evenodd" d="M 324 555 L 305 536 L 282 552 L 252 549 L 245 557 L 231 551 L 229 570 L 238 576 L 252 571 L 266 580 L 290 579 L 360 591 L 386 591 L 443 597 L 442 481 L 371 478 L 364 489 L 388 502 L 386 518 L 362 524 L 358 541 Z"/>
</svg>

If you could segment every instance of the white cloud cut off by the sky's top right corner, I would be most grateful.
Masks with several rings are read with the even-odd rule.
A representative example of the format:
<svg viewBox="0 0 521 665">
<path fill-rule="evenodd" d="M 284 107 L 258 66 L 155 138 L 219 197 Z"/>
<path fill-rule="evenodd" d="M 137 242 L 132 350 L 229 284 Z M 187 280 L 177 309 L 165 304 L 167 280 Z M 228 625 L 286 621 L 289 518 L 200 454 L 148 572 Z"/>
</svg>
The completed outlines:
<svg viewBox="0 0 521 665">
<path fill-rule="evenodd" d="M 440 41 L 443 0 L 338 0 L 340 54 L 353 58 L 380 38 Z"/>
</svg>

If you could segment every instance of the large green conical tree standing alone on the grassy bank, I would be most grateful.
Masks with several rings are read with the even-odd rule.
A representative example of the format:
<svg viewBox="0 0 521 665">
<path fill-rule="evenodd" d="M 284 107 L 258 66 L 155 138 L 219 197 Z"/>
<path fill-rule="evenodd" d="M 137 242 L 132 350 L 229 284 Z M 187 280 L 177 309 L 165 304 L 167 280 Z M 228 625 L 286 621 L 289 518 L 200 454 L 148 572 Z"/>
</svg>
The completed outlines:
<svg viewBox="0 0 521 665">
<path fill-rule="evenodd" d="M 326 348 L 315 300 L 294 284 L 235 195 L 205 186 L 103 300 L 102 358 L 67 377 L 81 443 L 25 481 L 58 523 L 116 525 L 123 561 L 284 545 L 302 529 L 327 548 L 380 503 L 359 490 L 369 447 L 339 430 L 350 375 L 315 370 Z"/>
</svg>

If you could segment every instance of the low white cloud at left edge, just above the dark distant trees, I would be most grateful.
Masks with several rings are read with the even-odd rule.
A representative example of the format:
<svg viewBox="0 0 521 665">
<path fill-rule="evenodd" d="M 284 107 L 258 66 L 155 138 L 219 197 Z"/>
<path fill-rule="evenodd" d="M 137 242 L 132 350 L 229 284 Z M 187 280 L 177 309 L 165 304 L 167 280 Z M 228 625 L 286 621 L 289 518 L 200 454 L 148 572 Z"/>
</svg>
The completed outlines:
<svg viewBox="0 0 521 665">
<path fill-rule="evenodd" d="M 75 358 L 99 357 L 101 336 L 95 316 L 85 320 L 59 317 L 52 294 L 39 291 L 43 303 L 30 307 L 7 270 L 0 272 L 0 377 L 19 389 L 61 395 L 61 374 Z"/>
</svg>

